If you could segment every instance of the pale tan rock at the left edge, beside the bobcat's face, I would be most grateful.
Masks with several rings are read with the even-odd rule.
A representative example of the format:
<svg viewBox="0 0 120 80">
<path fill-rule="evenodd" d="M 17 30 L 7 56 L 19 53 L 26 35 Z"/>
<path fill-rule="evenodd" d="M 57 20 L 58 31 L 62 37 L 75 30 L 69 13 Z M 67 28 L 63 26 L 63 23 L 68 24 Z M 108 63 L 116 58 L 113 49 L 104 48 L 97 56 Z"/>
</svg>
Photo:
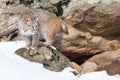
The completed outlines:
<svg viewBox="0 0 120 80">
<path fill-rule="evenodd" d="M 2 14 L 0 15 L 0 37 L 9 36 L 12 32 L 18 29 L 17 19 L 18 14 Z"/>
</svg>

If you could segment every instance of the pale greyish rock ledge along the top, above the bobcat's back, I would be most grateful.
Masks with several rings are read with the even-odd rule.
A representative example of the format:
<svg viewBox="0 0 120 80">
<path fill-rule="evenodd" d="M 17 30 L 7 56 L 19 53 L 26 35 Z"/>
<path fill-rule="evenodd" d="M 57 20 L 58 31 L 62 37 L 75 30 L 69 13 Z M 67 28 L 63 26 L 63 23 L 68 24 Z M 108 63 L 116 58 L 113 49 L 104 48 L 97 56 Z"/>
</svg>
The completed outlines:
<svg viewBox="0 0 120 80">
<path fill-rule="evenodd" d="M 56 1 L 52 1 L 55 3 Z M 1 0 L 0 1 L 0 14 L 3 13 L 22 13 L 28 9 L 47 9 L 50 12 L 57 13 L 57 7 L 54 6 L 49 0 Z"/>
</svg>

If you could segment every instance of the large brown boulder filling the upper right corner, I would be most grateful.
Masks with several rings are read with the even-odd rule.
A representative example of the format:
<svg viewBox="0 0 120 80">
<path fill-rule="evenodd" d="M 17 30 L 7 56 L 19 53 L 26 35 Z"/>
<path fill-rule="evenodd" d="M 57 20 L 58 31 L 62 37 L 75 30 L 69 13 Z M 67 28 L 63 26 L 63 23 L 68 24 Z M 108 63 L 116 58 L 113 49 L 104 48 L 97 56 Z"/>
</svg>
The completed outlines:
<svg viewBox="0 0 120 80">
<path fill-rule="evenodd" d="M 72 19 L 77 29 L 90 32 L 92 35 L 118 36 L 120 34 L 120 2 L 118 0 L 93 0 L 93 2 L 71 0 L 63 11 L 63 17 Z"/>
</svg>

